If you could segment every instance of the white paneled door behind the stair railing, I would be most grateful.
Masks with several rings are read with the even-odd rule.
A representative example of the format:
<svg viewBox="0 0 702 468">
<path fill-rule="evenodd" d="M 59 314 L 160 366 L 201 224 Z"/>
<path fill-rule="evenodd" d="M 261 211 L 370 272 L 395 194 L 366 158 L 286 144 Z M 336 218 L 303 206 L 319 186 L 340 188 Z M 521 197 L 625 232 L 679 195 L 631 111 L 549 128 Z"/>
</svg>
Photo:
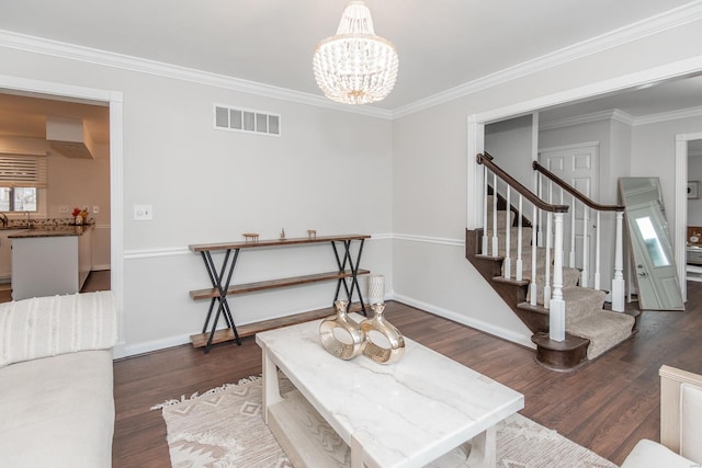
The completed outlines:
<svg viewBox="0 0 702 468">
<path fill-rule="evenodd" d="M 539 161 L 551 172 L 573 185 L 578 192 L 597 201 L 599 193 L 598 167 L 600 148 L 598 144 L 571 145 L 558 148 L 546 148 L 539 151 Z M 581 203 L 573 208 L 573 196 L 562 192 L 554 184 L 553 193 L 548 185 L 542 192 L 542 198 L 554 204 L 570 206 L 564 220 L 563 259 L 564 265 L 580 269 L 580 286 L 593 287 L 595 277 L 595 219 L 596 214 L 584 210 Z M 587 255 L 582 252 L 587 249 Z"/>
</svg>

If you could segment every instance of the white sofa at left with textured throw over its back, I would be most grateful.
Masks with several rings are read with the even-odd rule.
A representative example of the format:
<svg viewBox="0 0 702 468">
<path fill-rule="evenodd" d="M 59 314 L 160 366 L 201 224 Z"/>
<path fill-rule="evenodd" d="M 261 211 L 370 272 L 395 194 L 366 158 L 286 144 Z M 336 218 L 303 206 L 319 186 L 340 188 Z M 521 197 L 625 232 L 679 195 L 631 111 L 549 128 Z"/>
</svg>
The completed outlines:
<svg viewBox="0 0 702 468">
<path fill-rule="evenodd" d="M 0 304 L 0 465 L 110 467 L 111 292 Z"/>
</svg>

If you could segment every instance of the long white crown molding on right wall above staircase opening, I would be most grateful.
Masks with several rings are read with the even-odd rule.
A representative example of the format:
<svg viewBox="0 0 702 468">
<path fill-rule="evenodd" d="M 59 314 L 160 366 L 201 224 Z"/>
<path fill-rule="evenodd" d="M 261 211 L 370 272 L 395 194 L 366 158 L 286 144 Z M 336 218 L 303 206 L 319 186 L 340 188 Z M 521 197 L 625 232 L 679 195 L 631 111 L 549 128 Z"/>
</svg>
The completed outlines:
<svg viewBox="0 0 702 468">
<path fill-rule="evenodd" d="M 518 78 L 533 75 L 699 20 L 702 20 L 702 1 L 700 0 L 397 107 L 393 111 L 393 118 L 404 117 L 434 105 L 443 104 Z"/>
</svg>

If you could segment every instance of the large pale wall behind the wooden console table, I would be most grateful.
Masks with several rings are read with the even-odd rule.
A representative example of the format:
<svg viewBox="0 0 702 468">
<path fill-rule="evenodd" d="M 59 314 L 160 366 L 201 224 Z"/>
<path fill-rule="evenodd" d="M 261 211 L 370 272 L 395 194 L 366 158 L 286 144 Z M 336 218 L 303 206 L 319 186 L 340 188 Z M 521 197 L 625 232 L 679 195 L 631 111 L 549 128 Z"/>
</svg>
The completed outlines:
<svg viewBox="0 0 702 468">
<path fill-rule="evenodd" d="M 180 344 L 201 331 L 210 286 L 192 243 L 370 233 L 361 266 L 392 293 L 392 123 L 156 75 L 0 48 L 3 73 L 123 93 L 122 354 Z M 213 129 L 213 104 L 281 114 L 281 137 Z M 134 221 L 134 204 L 154 220 Z M 235 283 L 336 270 L 329 244 L 247 251 Z M 363 283 L 363 286 L 365 283 Z M 239 324 L 331 305 L 322 283 L 231 300 Z"/>
</svg>

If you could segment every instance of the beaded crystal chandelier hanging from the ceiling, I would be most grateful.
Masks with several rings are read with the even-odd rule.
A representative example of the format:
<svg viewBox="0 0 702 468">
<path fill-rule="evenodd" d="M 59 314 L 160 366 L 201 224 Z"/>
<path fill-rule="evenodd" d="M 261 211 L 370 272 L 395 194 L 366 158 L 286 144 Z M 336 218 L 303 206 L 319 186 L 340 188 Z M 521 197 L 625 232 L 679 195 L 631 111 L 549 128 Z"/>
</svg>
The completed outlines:
<svg viewBox="0 0 702 468">
<path fill-rule="evenodd" d="M 387 96 L 397 80 L 397 50 L 375 35 L 371 10 L 351 1 L 337 34 L 317 44 L 315 79 L 327 98 L 343 104 L 367 104 Z"/>
</svg>

